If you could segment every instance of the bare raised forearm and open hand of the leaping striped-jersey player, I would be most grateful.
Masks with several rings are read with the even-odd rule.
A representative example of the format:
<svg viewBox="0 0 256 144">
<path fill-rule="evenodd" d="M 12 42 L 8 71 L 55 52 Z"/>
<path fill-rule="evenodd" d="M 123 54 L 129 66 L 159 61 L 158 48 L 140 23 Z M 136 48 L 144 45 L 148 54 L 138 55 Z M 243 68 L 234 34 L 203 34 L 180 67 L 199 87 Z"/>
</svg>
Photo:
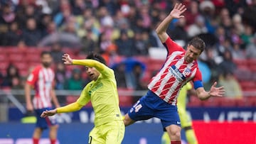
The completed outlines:
<svg viewBox="0 0 256 144">
<path fill-rule="evenodd" d="M 156 33 L 159 36 L 161 43 L 164 43 L 168 38 L 168 34 L 166 33 L 166 31 L 167 28 L 169 27 L 169 23 L 171 23 L 171 21 L 174 18 L 184 17 L 181 15 L 184 11 L 186 11 L 186 7 L 183 4 L 176 4 L 171 13 L 169 13 L 169 15 L 166 18 L 164 18 L 164 21 L 162 21 L 156 28 Z"/>
</svg>

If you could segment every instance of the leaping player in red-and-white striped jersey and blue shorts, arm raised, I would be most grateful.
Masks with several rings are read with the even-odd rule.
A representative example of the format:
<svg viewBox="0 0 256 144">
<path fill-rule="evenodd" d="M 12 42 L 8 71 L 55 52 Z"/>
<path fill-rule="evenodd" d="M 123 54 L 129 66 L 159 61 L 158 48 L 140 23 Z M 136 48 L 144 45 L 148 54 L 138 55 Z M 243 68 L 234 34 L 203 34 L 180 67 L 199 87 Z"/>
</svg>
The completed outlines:
<svg viewBox="0 0 256 144">
<path fill-rule="evenodd" d="M 203 40 L 193 38 L 188 43 L 187 50 L 184 50 L 166 33 L 169 23 L 174 18 L 182 18 L 181 14 L 184 11 L 186 11 L 185 6 L 176 4 L 169 16 L 156 28 L 156 33 L 168 52 L 166 62 L 158 74 L 151 79 L 146 96 L 139 99 L 124 116 L 125 126 L 152 117 L 161 119 L 163 128 L 166 128 L 169 134 L 171 144 L 181 144 L 181 122 L 176 103 L 183 85 L 193 81 L 196 94 L 202 100 L 210 96 L 225 94 L 224 87 L 215 87 L 217 82 L 210 87 L 208 92 L 203 88 L 202 76 L 196 60 L 206 47 Z"/>
</svg>

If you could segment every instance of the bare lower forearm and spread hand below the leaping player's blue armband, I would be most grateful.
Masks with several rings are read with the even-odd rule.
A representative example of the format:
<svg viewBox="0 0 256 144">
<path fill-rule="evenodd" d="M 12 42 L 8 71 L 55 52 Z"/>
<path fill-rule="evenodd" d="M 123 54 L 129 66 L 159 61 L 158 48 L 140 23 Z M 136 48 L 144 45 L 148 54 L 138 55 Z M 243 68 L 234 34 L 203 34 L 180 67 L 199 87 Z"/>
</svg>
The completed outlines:
<svg viewBox="0 0 256 144">
<path fill-rule="evenodd" d="M 205 100 L 209 99 L 210 96 L 223 96 L 225 94 L 224 87 L 216 87 L 217 82 L 214 82 L 214 84 L 210 87 L 210 91 L 206 92 L 203 87 L 199 87 L 196 89 L 196 94 L 199 99 Z"/>
</svg>

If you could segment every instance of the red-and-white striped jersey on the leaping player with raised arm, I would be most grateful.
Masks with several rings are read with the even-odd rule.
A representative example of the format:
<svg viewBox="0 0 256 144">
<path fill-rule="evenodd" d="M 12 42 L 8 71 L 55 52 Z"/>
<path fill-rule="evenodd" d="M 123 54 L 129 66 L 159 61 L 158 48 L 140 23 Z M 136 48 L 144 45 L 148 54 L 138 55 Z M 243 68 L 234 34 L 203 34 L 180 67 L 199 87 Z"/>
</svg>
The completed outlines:
<svg viewBox="0 0 256 144">
<path fill-rule="evenodd" d="M 190 80 L 194 85 L 195 82 L 202 82 L 202 75 L 197 61 L 187 63 L 184 60 L 186 50 L 171 38 L 166 40 L 164 46 L 168 51 L 166 61 L 158 74 L 151 79 L 148 88 L 164 101 L 176 105 L 181 87 Z"/>
</svg>

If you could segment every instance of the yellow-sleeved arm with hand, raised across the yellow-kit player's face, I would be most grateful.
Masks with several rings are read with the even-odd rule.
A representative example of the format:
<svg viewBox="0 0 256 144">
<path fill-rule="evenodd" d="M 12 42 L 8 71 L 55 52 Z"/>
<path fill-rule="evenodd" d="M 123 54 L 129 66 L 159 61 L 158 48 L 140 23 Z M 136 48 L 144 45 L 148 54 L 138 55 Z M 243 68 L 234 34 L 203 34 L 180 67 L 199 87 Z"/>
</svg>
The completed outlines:
<svg viewBox="0 0 256 144">
<path fill-rule="evenodd" d="M 95 67 L 99 72 L 102 72 L 105 69 L 105 65 L 97 60 L 73 60 L 68 54 L 63 55 L 63 61 L 65 65 L 84 65 L 87 67 Z"/>
</svg>

